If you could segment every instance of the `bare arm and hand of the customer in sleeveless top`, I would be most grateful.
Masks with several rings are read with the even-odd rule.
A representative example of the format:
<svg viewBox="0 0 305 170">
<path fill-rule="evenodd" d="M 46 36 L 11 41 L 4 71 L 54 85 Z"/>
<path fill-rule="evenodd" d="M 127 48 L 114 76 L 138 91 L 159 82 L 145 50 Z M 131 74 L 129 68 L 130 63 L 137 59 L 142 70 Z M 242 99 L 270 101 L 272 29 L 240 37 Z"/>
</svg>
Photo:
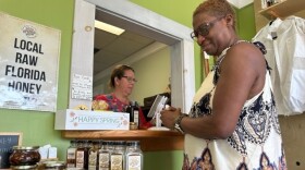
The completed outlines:
<svg viewBox="0 0 305 170">
<path fill-rule="evenodd" d="M 251 44 L 241 42 L 228 50 L 221 63 L 212 100 L 212 113 L 181 120 L 185 133 L 202 138 L 227 138 L 235 130 L 245 101 L 258 94 L 265 83 L 266 64 L 261 52 Z M 173 127 L 180 109 L 163 110 L 162 123 Z"/>
</svg>

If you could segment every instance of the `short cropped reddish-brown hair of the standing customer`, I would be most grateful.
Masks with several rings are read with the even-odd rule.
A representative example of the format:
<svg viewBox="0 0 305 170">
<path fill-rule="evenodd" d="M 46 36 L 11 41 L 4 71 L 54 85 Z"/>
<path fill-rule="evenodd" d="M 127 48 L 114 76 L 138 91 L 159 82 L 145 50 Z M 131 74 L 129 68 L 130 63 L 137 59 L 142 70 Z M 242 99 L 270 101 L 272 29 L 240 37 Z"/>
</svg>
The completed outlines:
<svg viewBox="0 0 305 170">
<path fill-rule="evenodd" d="M 193 17 L 200 13 L 208 13 L 209 15 L 216 17 L 223 17 L 231 14 L 233 17 L 233 28 L 235 29 L 235 11 L 227 0 L 206 0 L 196 8 L 193 13 Z"/>
</svg>

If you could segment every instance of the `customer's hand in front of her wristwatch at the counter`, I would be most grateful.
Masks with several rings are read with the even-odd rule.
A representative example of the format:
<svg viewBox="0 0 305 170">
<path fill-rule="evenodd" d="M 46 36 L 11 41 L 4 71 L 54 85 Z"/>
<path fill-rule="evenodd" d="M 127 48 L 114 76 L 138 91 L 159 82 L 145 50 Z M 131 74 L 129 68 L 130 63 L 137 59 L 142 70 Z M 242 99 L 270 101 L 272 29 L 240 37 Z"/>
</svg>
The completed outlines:
<svg viewBox="0 0 305 170">
<path fill-rule="evenodd" d="M 181 114 L 181 109 L 180 108 L 174 108 L 174 107 L 168 107 L 164 110 L 162 110 L 160 113 L 161 113 L 160 119 L 162 121 L 162 124 L 166 127 L 173 130 L 174 129 L 174 122 L 179 118 L 179 116 Z"/>
</svg>

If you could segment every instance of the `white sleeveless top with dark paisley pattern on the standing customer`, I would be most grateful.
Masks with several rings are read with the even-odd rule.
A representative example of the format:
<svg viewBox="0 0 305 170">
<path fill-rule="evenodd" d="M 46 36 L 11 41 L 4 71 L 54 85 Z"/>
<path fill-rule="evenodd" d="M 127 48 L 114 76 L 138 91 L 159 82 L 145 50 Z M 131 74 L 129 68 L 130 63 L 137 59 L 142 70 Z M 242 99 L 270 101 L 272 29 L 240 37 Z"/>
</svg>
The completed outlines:
<svg viewBox="0 0 305 170">
<path fill-rule="evenodd" d="M 211 101 L 220 76 L 219 64 L 228 49 L 194 96 L 188 117 L 212 114 Z M 244 104 L 231 136 L 204 139 L 185 134 L 183 170 L 283 170 L 285 165 L 269 71 L 266 71 L 264 89 Z"/>
</svg>

